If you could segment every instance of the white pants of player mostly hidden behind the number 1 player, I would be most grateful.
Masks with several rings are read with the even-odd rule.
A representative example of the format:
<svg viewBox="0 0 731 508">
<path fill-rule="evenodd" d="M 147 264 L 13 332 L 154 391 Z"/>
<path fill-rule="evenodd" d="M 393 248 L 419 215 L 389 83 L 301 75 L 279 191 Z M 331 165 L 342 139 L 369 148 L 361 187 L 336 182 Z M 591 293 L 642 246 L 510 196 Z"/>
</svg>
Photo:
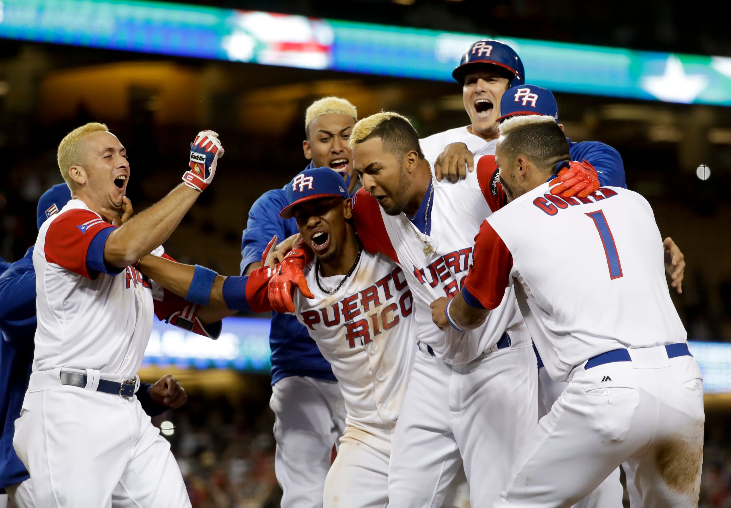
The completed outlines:
<svg viewBox="0 0 731 508">
<path fill-rule="evenodd" d="M 545 417 L 553 403 L 558 401 L 561 393 L 569 384 L 553 381 L 545 368 L 538 369 L 538 417 Z M 622 508 L 624 488 L 619 481 L 619 468 L 612 471 L 599 487 L 574 505 L 574 508 Z"/>
</svg>

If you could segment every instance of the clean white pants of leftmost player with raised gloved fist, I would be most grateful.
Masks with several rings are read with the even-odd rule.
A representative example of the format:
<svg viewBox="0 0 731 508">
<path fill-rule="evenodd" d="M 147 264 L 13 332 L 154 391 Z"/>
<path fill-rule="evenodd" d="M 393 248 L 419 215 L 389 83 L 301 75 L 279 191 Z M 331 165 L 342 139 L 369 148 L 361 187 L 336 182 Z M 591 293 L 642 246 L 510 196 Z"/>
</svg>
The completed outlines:
<svg viewBox="0 0 731 508">
<path fill-rule="evenodd" d="M 31 374 L 15 420 L 13 447 L 35 506 L 109 508 L 121 489 L 140 508 L 190 507 L 170 444 L 137 398 L 65 386 L 58 374 Z"/>
</svg>

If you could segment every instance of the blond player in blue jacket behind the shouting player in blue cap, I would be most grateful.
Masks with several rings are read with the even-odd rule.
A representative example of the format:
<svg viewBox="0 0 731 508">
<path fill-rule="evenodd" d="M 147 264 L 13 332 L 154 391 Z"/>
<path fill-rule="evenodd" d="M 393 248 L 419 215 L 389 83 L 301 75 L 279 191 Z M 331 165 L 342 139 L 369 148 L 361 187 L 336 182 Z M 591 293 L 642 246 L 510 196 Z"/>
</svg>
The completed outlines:
<svg viewBox="0 0 731 508">
<path fill-rule="evenodd" d="M 308 167 L 352 172 L 347 140 L 357 111 L 345 99 L 325 97 L 307 108 L 303 149 Z M 348 177 L 349 178 L 349 177 Z M 350 180 L 355 185 L 356 178 Z M 273 189 L 251 205 L 241 240 L 241 271 L 259 268 L 269 240 L 297 233 L 295 219 L 278 213 L 287 206 L 287 186 Z M 322 507 L 322 488 L 330 469 L 333 446 L 345 428 L 345 406 L 330 364 L 295 316 L 272 314 L 269 335 L 272 397 L 276 418 L 275 470 L 284 494 L 282 508 Z"/>
</svg>

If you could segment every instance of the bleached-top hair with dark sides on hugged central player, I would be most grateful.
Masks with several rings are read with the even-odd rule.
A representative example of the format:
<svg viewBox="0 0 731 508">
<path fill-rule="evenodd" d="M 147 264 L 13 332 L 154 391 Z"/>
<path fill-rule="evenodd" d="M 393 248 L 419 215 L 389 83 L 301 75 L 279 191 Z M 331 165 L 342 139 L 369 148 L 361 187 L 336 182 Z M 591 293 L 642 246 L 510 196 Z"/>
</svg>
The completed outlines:
<svg viewBox="0 0 731 508">
<path fill-rule="evenodd" d="M 416 151 L 420 159 L 424 158 L 419 144 L 419 133 L 404 115 L 382 111 L 358 121 L 350 133 L 350 149 L 372 137 L 381 138 L 383 150 L 387 153 L 403 157 L 409 151 Z"/>
</svg>

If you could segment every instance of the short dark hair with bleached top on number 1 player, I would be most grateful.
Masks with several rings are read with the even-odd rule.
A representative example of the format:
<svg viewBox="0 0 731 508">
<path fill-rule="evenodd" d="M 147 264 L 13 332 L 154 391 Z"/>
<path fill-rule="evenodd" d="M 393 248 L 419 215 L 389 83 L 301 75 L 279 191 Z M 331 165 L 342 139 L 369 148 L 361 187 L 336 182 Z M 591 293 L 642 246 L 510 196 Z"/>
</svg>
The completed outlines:
<svg viewBox="0 0 731 508">
<path fill-rule="evenodd" d="M 518 156 L 526 156 L 539 170 L 548 173 L 556 162 L 570 160 L 569 141 L 553 116 L 516 115 L 499 128 L 500 149 L 511 163 Z"/>
</svg>

